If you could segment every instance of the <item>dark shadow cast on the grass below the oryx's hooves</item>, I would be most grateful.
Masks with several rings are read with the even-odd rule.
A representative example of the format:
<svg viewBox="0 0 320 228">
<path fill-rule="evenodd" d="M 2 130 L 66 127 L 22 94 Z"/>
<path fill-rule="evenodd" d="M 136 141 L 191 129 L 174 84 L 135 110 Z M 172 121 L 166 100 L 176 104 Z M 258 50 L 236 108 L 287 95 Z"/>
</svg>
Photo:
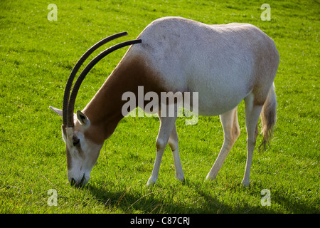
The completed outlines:
<svg viewBox="0 0 320 228">
<path fill-rule="evenodd" d="M 186 199 L 175 198 L 181 185 L 193 189 L 196 197 Z M 111 213 L 144 213 L 144 214 L 217 214 L 217 213 L 276 213 L 272 207 L 262 207 L 260 204 L 261 195 L 256 188 L 247 188 L 249 195 L 257 195 L 257 204 L 252 206 L 242 199 L 239 203 L 229 204 L 219 194 L 203 191 L 201 182 L 185 182 L 177 185 L 157 184 L 153 187 L 141 185 L 140 189 L 134 190 L 129 185 L 115 186 L 111 182 L 96 182 L 95 185 L 88 185 L 88 189 L 95 195 L 96 199 L 105 205 L 107 212 Z M 213 184 L 214 186 L 214 184 Z M 238 188 L 238 187 L 237 187 Z M 220 190 L 221 191 L 221 190 Z M 230 195 L 234 195 L 233 188 Z M 218 192 L 218 190 L 217 190 Z M 185 200 L 186 199 L 186 200 Z M 200 200 L 200 202 L 198 202 Z"/>
</svg>

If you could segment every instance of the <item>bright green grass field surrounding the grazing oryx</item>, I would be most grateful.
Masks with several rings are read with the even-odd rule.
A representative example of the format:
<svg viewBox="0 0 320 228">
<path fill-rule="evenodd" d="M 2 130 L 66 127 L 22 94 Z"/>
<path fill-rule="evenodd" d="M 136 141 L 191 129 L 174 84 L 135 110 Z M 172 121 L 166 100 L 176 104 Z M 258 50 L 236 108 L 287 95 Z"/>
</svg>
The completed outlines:
<svg viewBox="0 0 320 228">
<path fill-rule="evenodd" d="M 50 3 L 58 6 L 58 21 L 47 19 Z M 270 4 L 271 21 L 260 19 L 262 3 Z M 0 213 L 319 213 L 319 15 L 319 1 L 0 1 Z M 218 117 L 187 126 L 178 119 L 186 182 L 174 179 L 166 148 L 153 187 L 144 185 L 159 120 L 125 118 L 102 147 L 90 182 L 70 187 L 62 120 L 48 106 L 62 108 L 70 70 L 92 44 L 120 31 L 129 36 L 110 45 L 136 38 L 161 16 L 250 23 L 274 39 L 278 121 L 270 147 L 255 152 L 250 187 L 240 186 L 243 103 L 242 133 L 213 182 L 204 180 L 223 143 Z M 95 66 L 76 109 L 85 107 L 126 50 Z M 57 207 L 47 204 L 50 189 L 58 192 Z M 263 189 L 270 190 L 270 207 L 260 204 Z"/>
</svg>

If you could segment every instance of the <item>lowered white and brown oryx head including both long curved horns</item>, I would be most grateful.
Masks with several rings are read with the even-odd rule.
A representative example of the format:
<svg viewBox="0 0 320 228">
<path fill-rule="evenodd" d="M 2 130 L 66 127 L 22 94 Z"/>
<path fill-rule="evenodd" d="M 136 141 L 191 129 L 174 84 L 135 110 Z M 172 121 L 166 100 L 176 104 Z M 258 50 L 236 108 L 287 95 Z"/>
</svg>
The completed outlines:
<svg viewBox="0 0 320 228">
<path fill-rule="evenodd" d="M 68 181 L 71 185 L 85 185 L 89 181 L 90 172 L 92 167 L 95 165 L 95 162 L 97 162 L 97 158 L 103 145 L 103 142 L 97 143 L 92 139 L 92 137 L 87 137 L 87 133 L 95 130 L 90 124 L 89 118 L 87 118 L 87 116 L 80 110 L 78 110 L 76 114 L 74 113 L 75 98 L 78 94 L 81 83 L 92 67 L 95 66 L 95 64 L 102 58 L 107 56 L 107 54 L 124 46 L 141 43 L 141 40 L 125 41 L 107 48 L 105 51 L 102 51 L 102 53 L 93 58 L 92 61 L 90 61 L 90 63 L 83 69 L 71 90 L 73 80 L 80 66 L 82 66 L 82 63 L 85 62 L 93 51 L 115 38 L 126 35 L 127 32 L 114 34 L 102 39 L 89 48 L 80 58 L 78 63 L 75 64 L 73 71 L 70 73 L 63 95 L 63 110 L 50 106 L 55 113 L 63 117 L 62 135 L 66 145 L 65 150 L 67 155 Z"/>
</svg>

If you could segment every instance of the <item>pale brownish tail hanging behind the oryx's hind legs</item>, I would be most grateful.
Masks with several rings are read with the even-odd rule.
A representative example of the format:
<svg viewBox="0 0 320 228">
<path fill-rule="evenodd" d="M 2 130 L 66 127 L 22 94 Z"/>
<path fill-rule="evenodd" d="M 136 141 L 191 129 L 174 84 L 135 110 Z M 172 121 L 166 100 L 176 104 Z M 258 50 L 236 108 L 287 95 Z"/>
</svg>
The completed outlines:
<svg viewBox="0 0 320 228">
<path fill-rule="evenodd" d="M 272 138 L 274 124 L 277 120 L 277 97 L 274 91 L 274 84 L 270 88 L 270 91 L 267 96 L 267 100 L 265 100 L 265 104 L 262 107 L 261 112 L 261 122 L 262 122 L 262 134 L 263 140 L 262 144 L 259 146 L 263 146 L 263 150 L 265 150 L 265 146 L 270 139 Z"/>
</svg>

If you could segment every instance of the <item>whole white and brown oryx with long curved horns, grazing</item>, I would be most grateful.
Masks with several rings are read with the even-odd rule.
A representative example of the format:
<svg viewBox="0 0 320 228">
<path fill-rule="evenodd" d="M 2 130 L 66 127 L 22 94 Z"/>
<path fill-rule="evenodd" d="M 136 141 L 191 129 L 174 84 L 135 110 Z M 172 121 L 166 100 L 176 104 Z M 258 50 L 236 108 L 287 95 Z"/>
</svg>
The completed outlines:
<svg viewBox="0 0 320 228">
<path fill-rule="evenodd" d="M 272 39 L 250 24 L 207 25 L 180 17 L 157 19 L 146 26 L 139 39 L 119 43 L 94 58 L 80 73 L 70 95 L 75 74 L 85 59 L 102 44 L 126 34 L 115 34 L 92 46 L 70 73 L 63 110 L 50 106 L 63 116 L 62 133 L 71 185 L 87 183 L 104 141 L 112 135 L 124 115 L 132 110 L 122 112 L 126 102 L 122 95 L 128 91 L 138 95 L 139 86 L 143 86 L 144 94 L 198 92 L 198 114 L 220 115 L 224 141 L 206 177 L 209 180 L 216 177 L 240 135 L 237 108 L 241 100 L 245 100 L 247 162 L 242 185 L 249 185 L 260 113 L 262 145 L 270 140 L 276 121 L 277 100 L 273 81 L 279 53 Z M 129 48 L 90 103 L 82 112 L 78 110 L 74 114 L 76 95 L 90 69 L 108 53 L 132 44 L 135 45 Z M 136 107 L 143 109 L 144 105 L 137 103 Z M 175 125 L 177 106 L 174 103 L 174 116 L 165 116 L 161 115 L 159 104 L 161 124 L 156 138 L 156 160 L 147 185 L 155 183 L 158 178 L 167 143 L 174 155 L 176 178 L 184 180 Z"/>
</svg>

